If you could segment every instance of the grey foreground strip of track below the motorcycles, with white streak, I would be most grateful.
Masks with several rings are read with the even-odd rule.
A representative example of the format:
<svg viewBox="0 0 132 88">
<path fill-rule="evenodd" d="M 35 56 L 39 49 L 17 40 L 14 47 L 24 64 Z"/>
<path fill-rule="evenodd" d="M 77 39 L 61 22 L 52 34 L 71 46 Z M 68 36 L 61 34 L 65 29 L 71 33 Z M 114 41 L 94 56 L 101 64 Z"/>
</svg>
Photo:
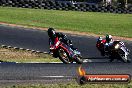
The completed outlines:
<svg viewBox="0 0 132 88">
<path fill-rule="evenodd" d="M 62 83 L 78 77 L 78 64 L 0 64 L 0 84 L 12 83 Z M 85 63 L 87 74 L 130 74 L 128 63 Z"/>
</svg>

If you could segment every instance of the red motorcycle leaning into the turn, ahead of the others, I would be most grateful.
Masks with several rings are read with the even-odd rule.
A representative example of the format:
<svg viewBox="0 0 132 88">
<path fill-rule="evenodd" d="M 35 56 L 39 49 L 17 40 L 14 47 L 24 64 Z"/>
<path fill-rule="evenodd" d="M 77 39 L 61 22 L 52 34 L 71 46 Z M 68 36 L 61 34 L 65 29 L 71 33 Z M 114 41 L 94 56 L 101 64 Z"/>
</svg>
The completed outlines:
<svg viewBox="0 0 132 88">
<path fill-rule="evenodd" d="M 83 63 L 81 53 L 77 49 L 71 49 L 70 46 L 61 42 L 59 39 L 55 41 L 54 45 L 50 45 L 50 51 L 52 52 L 53 57 L 59 57 L 65 64 L 73 63 L 74 61 L 78 64 Z"/>
</svg>

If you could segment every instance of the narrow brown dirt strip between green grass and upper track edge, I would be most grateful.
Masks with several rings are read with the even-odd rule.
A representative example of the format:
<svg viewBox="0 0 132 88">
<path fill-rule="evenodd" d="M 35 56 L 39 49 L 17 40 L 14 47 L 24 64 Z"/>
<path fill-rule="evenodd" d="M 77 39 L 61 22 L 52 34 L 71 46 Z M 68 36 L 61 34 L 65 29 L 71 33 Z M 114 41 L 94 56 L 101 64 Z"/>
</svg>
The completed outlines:
<svg viewBox="0 0 132 88">
<path fill-rule="evenodd" d="M 37 30 L 44 30 L 47 31 L 48 28 L 40 28 L 40 27 L 31 27 L 31 26 L 24 26 L 24 25 L 17 25 L 17 24 L 10 24 L 10 23 L 6 23 L 6 22 L 0 22 L 0 24 L 2 25 L 8 25 L 8 26 L 13 26 L 13 27 L 23 27 L 23 28 L 32 28 L 32 29 L 37 29 Z M 94 33 L 86 33 L 86 32 L 77 32 L 77 31 L 68 31 L 68 30 L 57 30 L 58 32 L 63 32 L 63 33 L 68 33 L 71 35 L 83 35 L 83 36 L 92 36 L 92 37 L 99 37 L 99 36 L 104 36 L 104 35 L 98 35 L 98 34 L 94 34 Z M 128 41 L 132 41 L 132 38 L 127 38 L 127 37 L 119 37 L 119 36 L 113 36 L 113 38 L 115 40 L 128 40 Z"/>
</svg>

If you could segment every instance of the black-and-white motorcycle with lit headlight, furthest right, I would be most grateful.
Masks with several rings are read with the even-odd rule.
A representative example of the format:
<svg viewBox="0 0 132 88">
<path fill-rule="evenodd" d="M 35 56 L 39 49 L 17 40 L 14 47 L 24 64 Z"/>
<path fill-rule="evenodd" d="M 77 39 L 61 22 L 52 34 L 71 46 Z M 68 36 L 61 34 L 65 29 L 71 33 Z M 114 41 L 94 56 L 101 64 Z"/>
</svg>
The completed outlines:
<svg viewBox="0 0 132 88">
<path fill-rule="evenodd" d="M 114 58 L 117 58 L 123 62 L 131 62 L 131 60 L 128 58 L 129 52 L 130 51 L 126 48 L 122 41 L 114 41 L 109 46 L 106 55 L 109 56 L 111 62 L 114 60 Z"/>
</svg>

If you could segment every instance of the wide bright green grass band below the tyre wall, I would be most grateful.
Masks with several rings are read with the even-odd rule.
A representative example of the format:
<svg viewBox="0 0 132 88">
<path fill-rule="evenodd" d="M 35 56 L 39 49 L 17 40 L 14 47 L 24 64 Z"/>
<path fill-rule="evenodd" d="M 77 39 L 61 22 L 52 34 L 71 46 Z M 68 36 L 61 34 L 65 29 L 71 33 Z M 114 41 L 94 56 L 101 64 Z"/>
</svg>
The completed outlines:
<svg viewBox="0 0 132 88">
<path fill-rule="evenodd" d="M 132 14 L 0 7 L 0 21 L 35 27 L 132 37 Z"/>
</svg>

